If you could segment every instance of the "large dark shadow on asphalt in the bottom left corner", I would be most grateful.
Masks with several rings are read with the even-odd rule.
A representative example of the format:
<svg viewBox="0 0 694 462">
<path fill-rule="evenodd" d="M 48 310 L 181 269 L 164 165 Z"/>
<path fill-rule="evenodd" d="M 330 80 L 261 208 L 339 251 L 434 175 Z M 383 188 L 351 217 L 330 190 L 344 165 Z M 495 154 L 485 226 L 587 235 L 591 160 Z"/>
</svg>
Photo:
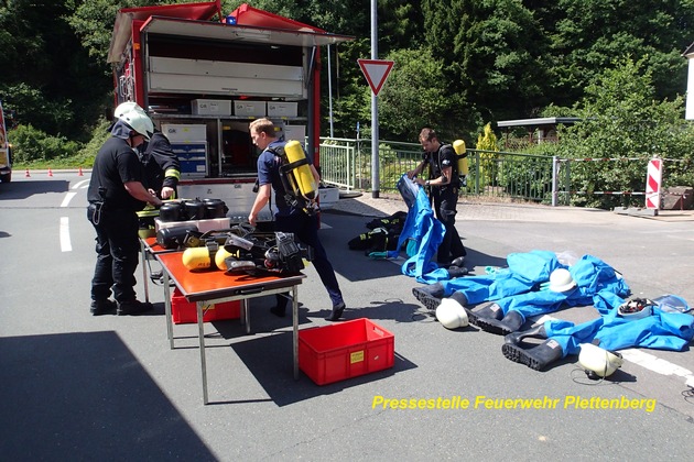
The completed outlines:
<svg viewBox="0 0 694 462">
<path fill-rule="evenodd" d="M 115 332 L 0 338 L 7 460 L 215 460 Z"/>
</svg>

